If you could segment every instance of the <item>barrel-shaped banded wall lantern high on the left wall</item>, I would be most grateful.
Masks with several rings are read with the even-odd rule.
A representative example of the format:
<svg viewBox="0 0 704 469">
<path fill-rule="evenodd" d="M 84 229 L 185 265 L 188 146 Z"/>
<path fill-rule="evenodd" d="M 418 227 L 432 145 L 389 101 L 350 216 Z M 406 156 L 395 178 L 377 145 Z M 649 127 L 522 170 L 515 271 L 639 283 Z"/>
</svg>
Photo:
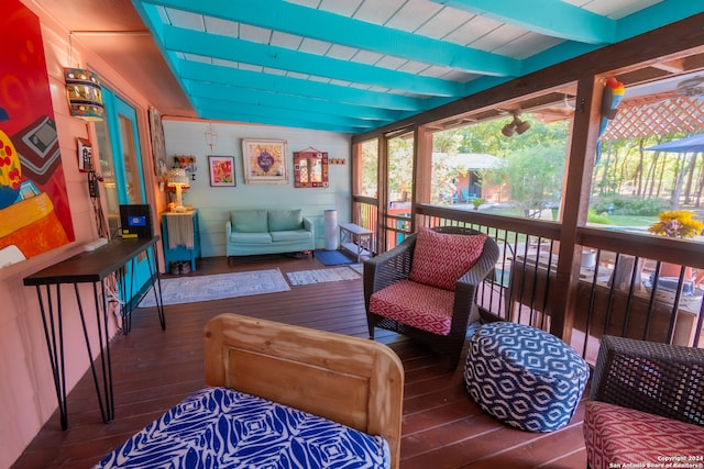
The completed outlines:
<svg viewBox="0 0 704 469">
<path fill-rule="evenodd" d="M 102 121 L 106 108 L 98 76 L 82 68 L 64 68 L 70 115 L 86 121 Z"/>
</svg>

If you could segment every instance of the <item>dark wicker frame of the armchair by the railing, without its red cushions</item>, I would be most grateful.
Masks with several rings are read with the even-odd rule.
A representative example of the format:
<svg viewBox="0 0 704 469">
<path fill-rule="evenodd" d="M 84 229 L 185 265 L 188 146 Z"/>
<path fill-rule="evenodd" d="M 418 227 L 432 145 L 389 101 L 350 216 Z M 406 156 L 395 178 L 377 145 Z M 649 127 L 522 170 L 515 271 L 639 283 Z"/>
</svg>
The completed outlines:
<svg viewBox="0 0 704 469">
<path fill-rule="evenodd" d="M 476 230 L 460 226 L 440 226 L 432 228 L 432 231 L 460 235 L 483 234 Z M 476 263 L 454 283 L 454 303 L 452 311 L 448 311 L 448 314 L 452 316 L 450 332 L 447 335 L 439 335 L 370 311 L 372 294 L 398 281 L 408 280 L 416 239 L 417 234 L 414 233 L 395 248 L 364 263 L 364 303 L 370 338 L 374 338 L 375 327 L 409 336 L 426 343 L 437 351 L 446 354 L 449 358 L 450 367 L 454 369 L 462 353 L 468 326 L 471 322 L 479 320 L 479 310 L 475 302 L 477 287 L 493 271 L 499 256 L 498 245 L 487 236 Z"/>
</svg>

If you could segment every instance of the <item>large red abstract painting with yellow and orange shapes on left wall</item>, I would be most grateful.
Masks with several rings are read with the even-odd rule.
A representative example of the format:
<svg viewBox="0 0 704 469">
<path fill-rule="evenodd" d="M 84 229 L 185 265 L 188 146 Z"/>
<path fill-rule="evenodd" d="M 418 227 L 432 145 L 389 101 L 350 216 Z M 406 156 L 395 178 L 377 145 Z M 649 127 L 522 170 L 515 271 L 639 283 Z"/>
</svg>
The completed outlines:
<svg viewBox="0 0 704 469">
<path fill-rule="evenodd" d="M 0 5 L 0 268 L 75 239 L 38 18 Z"/>
</svg>

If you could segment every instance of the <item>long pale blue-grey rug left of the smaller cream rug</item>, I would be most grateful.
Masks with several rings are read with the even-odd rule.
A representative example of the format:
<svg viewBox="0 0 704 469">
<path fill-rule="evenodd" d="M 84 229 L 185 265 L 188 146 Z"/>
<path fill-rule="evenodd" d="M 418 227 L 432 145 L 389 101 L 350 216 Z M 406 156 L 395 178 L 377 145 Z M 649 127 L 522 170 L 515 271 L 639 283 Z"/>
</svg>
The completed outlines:
<svg viewBox="0 0 704 469">
<path fill-rule="evenodd" d="M 290 290 L 290 287 L 288 287 L 278 269 L 178 277 L 162 280 L 164 304 L 195 303 L 197 301 L 222 300 L 224 298 L 288 290 Z M 150 289 L 140 302 L 139 308 L 154 305 L 156 305 L 154 292 Z"/>
</svg>

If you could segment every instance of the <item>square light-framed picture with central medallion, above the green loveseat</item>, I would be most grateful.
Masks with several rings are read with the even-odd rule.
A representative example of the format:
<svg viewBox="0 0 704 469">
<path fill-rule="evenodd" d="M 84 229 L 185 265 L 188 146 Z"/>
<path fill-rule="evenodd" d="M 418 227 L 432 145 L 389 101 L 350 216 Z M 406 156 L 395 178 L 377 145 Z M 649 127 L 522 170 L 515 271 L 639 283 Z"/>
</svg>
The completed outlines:
<svg viewBox="0 0 704 469">
<path fill-rule="evenodd" d="M 242 139 L 242 164 L 245 185 L 285 185 L 286 141 Z"/>
</svg>

